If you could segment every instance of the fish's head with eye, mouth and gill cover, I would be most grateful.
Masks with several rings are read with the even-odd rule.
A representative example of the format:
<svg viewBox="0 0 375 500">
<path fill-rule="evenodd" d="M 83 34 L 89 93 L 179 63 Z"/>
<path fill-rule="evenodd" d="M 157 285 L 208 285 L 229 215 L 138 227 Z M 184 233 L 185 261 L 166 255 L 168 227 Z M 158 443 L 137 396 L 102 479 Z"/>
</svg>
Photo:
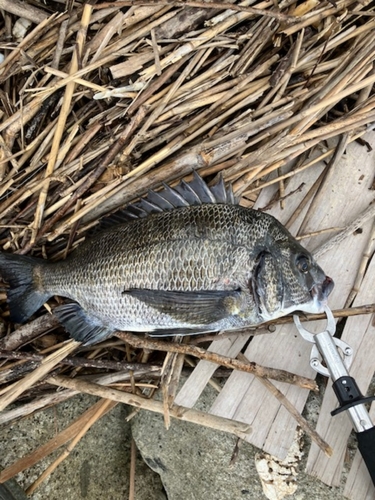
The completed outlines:
<svg viewBox="0 0 375 500">
<path fill-rule="evenodd" d="M 263 321 L 324 311 L 333 280 L 292 236 L 259 252 L 250 291 Z"/>
</svg>

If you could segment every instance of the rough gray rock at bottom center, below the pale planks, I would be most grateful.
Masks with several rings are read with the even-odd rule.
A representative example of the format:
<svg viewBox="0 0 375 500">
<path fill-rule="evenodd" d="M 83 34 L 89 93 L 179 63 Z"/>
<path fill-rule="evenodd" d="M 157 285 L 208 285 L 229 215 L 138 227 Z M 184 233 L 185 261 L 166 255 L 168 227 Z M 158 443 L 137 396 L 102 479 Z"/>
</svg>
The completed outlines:
<svg viewBox="0 0 375 500">
<path fill-rule="evenodd" d="M 207 410 L 214 395 L 206 388 L 197 407 Z M 160 474 L 168 500 L 267 499 L 255 467 L 260 450 L 240 442 L 233 463 L 237 439 L 230 434 L 175 419 L 166 430 L 163 417 L 147 411 L 132 419 L 132 432 L 144 461 Z M 303 472 L 304 458 L 292 478 L 297 489 L 285 500 L 342 500 L 342 487 L 330 488 Z"/>
</svg>

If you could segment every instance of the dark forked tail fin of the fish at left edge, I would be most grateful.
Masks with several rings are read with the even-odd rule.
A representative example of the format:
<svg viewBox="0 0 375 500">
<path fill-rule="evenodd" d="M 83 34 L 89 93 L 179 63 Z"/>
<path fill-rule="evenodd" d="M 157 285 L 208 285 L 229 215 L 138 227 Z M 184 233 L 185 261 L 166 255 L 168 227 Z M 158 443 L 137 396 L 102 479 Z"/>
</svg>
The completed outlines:
<svg viewBox="0 0 375 500">
<path fill-rule="evenodd" d="M 35 282 L 34 271 L 40 265 L 45 265 L 41 259 L 0 252 L 0 276 L 10 285 L 7 298 L 14 323 L 24 323 L 51 297 Z"/>
</svg>

